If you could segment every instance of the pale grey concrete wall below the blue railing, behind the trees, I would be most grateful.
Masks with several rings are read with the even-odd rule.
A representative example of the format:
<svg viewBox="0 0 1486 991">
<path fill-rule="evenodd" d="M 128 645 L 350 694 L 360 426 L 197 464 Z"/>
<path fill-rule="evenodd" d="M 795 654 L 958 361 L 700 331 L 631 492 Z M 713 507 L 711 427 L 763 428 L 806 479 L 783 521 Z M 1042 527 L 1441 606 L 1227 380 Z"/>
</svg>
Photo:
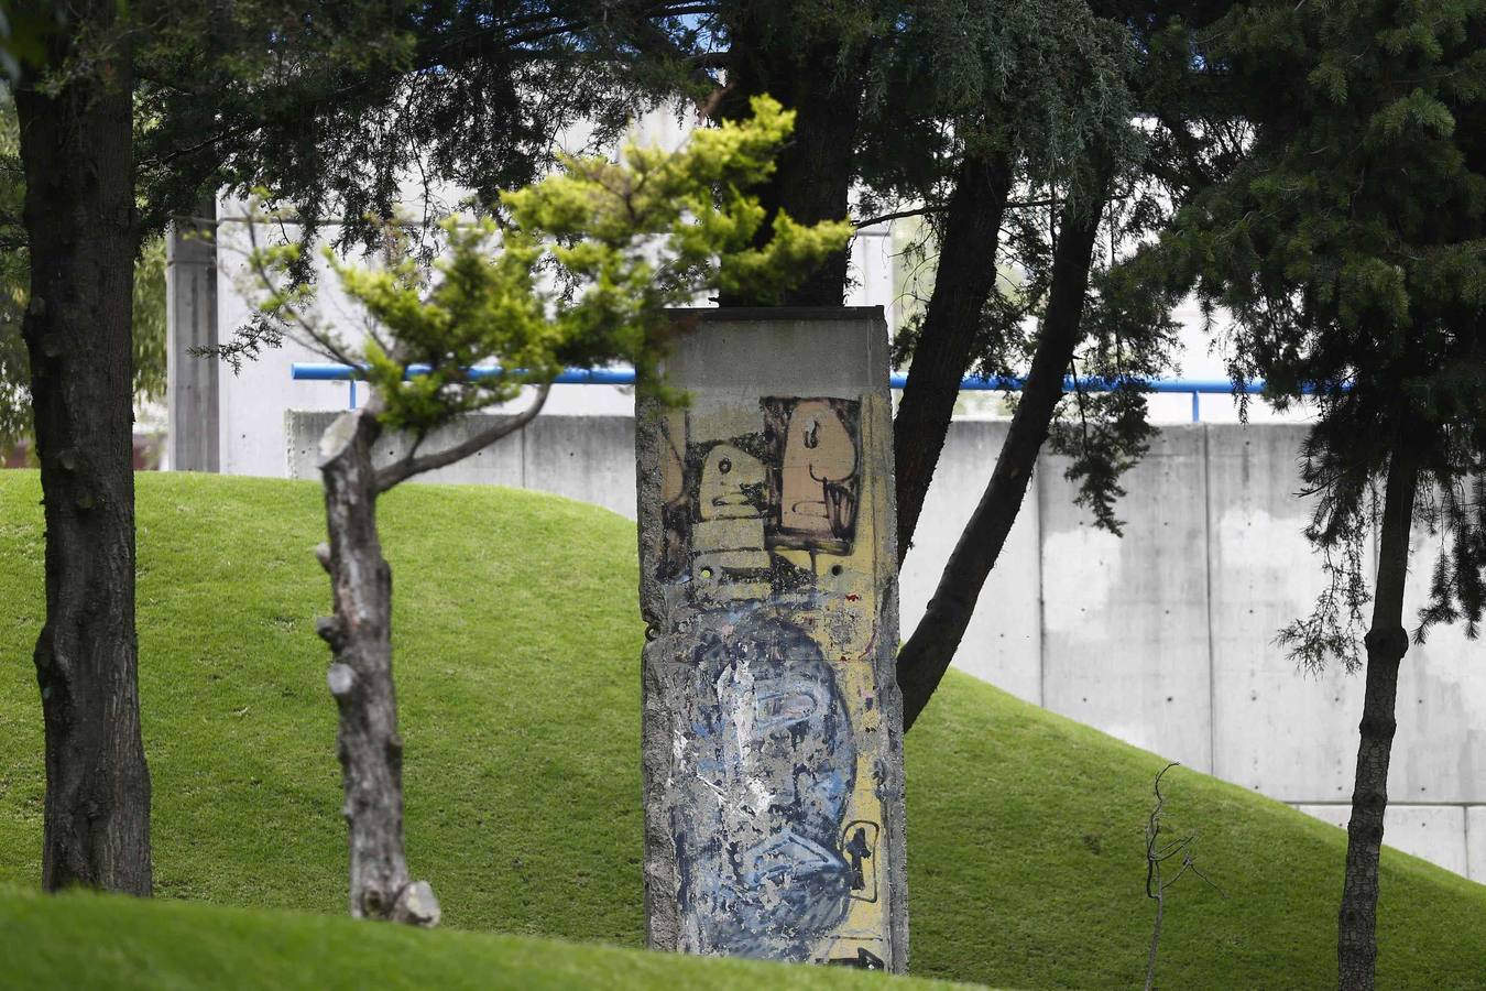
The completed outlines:
<svg viewBox="0 0 1486 991">
<path fill-rule="evenodd" d="M 314 478 L 331 413 L 288 413 L 288 474 Z M 1345 825 L 1361 676 L 1306 675 L 1275 633 L 1321 588 L 1302 530 L 1302 425 L 1169 426 L 1125 480 L 1125 536 L 1073 505 L 1045 456 L 955 666 L 1137 746 Z M 902 574 L 902 630 L 1006 437 L 955 420 Z M 525 486 L 635 516 L 630 417 L 542 416 L 432 480 Z M 1438 536 L 1415 533 L 1410 615 Z M 1486 881 L 1486 646 L 1435 630 L 1398 686 L 1388 842 Z"/>
</svg>

